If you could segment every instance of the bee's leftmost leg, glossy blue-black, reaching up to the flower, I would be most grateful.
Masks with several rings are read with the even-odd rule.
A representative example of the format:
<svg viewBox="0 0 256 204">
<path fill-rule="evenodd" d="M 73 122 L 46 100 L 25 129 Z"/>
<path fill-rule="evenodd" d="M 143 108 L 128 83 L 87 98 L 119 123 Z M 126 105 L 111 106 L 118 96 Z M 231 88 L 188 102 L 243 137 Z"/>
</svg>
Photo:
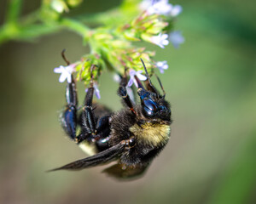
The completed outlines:
<svg viewBox="0 0 256 204">
<path fill-rule="evenodd" d="M 71 83 L 67 84 L 66 88 L 66 109 L 61 114 L 61 125 L 67 135 L 71 139 L 76 138 L 76 127 L 77 127 L 77 91 L 76 84 L 72 79 Z"/>
</svg>

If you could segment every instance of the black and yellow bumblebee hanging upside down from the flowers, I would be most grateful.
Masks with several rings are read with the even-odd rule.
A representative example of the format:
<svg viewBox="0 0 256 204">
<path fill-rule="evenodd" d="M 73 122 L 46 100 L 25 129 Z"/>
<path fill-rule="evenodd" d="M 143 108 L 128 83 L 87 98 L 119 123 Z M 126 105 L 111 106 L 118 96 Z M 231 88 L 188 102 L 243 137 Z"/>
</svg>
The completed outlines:
<svg viewBox="0 0 256 204">
<path fill-rule="evenodd" d="M 69 138 L 90 156 L 51 171 L 81 170 L 114 161 L 103 172 L 115 178 L 134 178 L 145 172 L 154 157 L 166 146 L 172 119 L 170 104 L 165 99 L 166 93 L 160 79 L 157 77 L 162 95 L 150 81 L 144 63 L 143 67 L 147 76 L 145 88 L 135 76 L 140 104 L 135 105 L 127 94 L 125 74 L 121 77 L 118 89 L 125 107 L 117 112 L 103 105 L 96 105 L 95 109 L 92 107 L 95 105 L 92 103 L 95 91 L 92 71 L 90 88 L 85 95 L 81 113 L 75 82 L 72 79 L 67 84 L 67 105 L 61 114 L 61 124 Z"/>
</svg>

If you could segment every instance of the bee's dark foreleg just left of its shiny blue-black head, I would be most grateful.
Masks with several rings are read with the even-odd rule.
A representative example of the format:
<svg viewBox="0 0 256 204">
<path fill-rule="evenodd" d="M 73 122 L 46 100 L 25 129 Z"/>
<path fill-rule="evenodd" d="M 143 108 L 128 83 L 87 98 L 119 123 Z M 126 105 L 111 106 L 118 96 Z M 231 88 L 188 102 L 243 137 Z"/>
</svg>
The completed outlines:
<svg viewBox="0 0 256 204">
<path fill-rule="evenodd" d="M 127 83 L 128 83 L 127 82 L 127 77 L 126 77 L 126 74 L 125 74 L 125 77 L 122 77 L 121 81 L 119 83 L 118 94 L 119 94 L 120 97 L 122 97 L 122 99 L 124 101 L 124 104 L 126 106 L 128 106 L 130 108 L 131 112 L 136 115 L 136 112 L 134 111 L 133 105 L 131 103 L 130 96 L 128 95 L 127 90 L 126 90 Z"/>
</svg>

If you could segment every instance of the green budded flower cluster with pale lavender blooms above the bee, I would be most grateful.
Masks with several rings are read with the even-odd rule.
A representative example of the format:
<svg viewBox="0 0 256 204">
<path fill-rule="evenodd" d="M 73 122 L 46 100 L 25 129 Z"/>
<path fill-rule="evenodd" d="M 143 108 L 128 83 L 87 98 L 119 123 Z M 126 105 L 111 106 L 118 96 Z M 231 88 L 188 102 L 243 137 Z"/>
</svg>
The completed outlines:
<svg viewBox="0 0 256 204">
<path fill-rule="evenodd" d="M 60 7 L 63 0 L 52 0 L 57 12 L 62 12 Z M 127 0 L 125 0 L 127 1 Z M 147 51 L 145 48 L 137 48 L 132 42 L 144 41 L 151 42 L 160 48 L 165 48 L 172 42 L 178 48 L 184 42 L 180 31 L 172 31 L 174 18 L 182 12 L 180 5 L 172 5 L 168 0 L 143 0 L 138 5 L 143 10 L 142 14 L 133 17 L 133 20 L 114 27 L 114 23 L 106 27 L 91 30 L 84 39 L 89 43 L 91 52 L 84 55 L 78 62 L 67 66 L 55 68 L 55 73 L 60 73 L 59 82 L 83 81 L 85 91 L 90 84 L 90 76 L 93 76 L 95 94 L 101 98 L 98 88 L 98 77 L 102 70 L 113 71 L 122 75 L 126 70 L 130 79 L 127 84 L 137 86 L 137 78 L 145 81 L 147 77 L 143 75 L 143 59 L 148 73 L 154 73 L 158 68 L 160 73 L 168 69 L 167 61 L 155 62 L 154 52 Z M 64 9 L 65 10 L 65 9 Z M 125 13 L 125 12 L 123 12 Z M 91 66 L 95 69 L 91 72 Z M 72 77 L 73 75 L 73 77 Z"/>
</svg>

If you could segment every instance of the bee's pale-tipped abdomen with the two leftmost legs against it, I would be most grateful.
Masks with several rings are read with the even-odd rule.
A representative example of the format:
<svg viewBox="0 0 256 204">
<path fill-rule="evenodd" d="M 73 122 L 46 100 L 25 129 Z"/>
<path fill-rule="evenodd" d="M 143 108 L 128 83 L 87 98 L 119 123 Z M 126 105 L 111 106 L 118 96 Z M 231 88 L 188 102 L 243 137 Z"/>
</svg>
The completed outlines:
<svg viewBox="0 0 256 204">
<path fill-rule="evenodd" d="M 92 107 L 95 105 L 92 103 L 95 91 L 93 83 L 91 72 L 90 88 L 88 88 L 85 95 L 84 106 L 78 119 L 77 91 L 75 82 L 72 79 L 72 82 L 67 84 L 67 105 L 65 111 L 61 114 L 61 124 L 69 138 L 79 144 L 81 149 L 89 155 L 109 148 L 108 139 L 111 119 L 111 112 L 105 106 L 96 105 L 96 108 Z"/>
</svg>

